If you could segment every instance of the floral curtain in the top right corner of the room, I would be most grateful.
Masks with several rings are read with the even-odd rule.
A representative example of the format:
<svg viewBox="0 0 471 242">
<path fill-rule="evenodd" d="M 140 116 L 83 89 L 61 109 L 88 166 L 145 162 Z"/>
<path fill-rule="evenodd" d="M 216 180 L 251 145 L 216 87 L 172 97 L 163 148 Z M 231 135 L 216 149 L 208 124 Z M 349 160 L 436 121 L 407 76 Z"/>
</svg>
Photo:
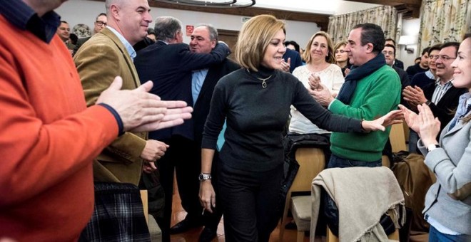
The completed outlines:
<svg viewBox="0 0 471 242">
<path fill-rule="evenodd" d="M 471 32 L 470 0 L 422 1 L 418 49 L 436 43 L 460 42 Z"/>
</svg>

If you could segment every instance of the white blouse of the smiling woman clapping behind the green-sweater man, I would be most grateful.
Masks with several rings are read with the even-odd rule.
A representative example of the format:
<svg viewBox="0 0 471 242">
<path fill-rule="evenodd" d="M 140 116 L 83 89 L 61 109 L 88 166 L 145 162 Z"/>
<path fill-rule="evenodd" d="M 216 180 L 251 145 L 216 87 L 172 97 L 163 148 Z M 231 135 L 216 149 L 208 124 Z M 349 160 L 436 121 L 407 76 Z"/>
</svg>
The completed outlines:
<svg viewBox="0 0 471 242">
<path fill-rule="evenodd" d="M 309 76 L 311 72 L 308 70 L 307 65 L 301 65 L 295 68 L 293 75 L 303 83 L 305 88 L 309 87 Z M 330 64 L 328 68 L 315 72 L 319 75 L 320 82 L 329 88 L 330 93 L 336 94 L 342 87 L 345 79 L 342 75 L 342 70 L 338 65 Z M 291 106 L 291 120 L 289 132 L 298 134 L 328 134 L 330 131 L 320 129 L 317 125 L 314 125 L 304 115 L 302 115 L 295 107 Z"/>
</svg>

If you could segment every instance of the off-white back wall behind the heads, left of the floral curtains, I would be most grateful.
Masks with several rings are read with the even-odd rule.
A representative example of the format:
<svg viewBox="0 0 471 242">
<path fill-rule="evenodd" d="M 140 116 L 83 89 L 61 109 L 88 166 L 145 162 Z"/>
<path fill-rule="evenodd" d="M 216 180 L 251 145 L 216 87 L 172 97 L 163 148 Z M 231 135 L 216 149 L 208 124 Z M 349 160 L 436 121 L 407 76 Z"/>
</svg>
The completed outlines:
<svg viewBox="0 0 471 242">
<path fill-rule="evenodd" d="M 56 12 L 61 15 L 61 19 L 69 22 L 73 28 L 77 23 L 85 23 L 93 31 L 93 21 L 96 16 L 105 11 L 105 3 L 101 1 L 71 0 L 62 4 Z M 216 28 L 239 31 L 242 27 L 242 17 L 228 14 L 211 14 L 197 11 L 183 11 L 178 9 L 151 8 L 153 19 L 158 16 L 173 16 L 185 26 L 196 26 L 198 23 L 211 23 Z M 153 23 L 151 23 L 153 27 Z M 315 23 L 302 21 L 286 21 L 286 40 L 296 41 L 301 47 L 305 47 L 308 39 L 320 28 Z M 183 42 L 189 43 L 188 36 L 183 37 Z"/>
</svg>

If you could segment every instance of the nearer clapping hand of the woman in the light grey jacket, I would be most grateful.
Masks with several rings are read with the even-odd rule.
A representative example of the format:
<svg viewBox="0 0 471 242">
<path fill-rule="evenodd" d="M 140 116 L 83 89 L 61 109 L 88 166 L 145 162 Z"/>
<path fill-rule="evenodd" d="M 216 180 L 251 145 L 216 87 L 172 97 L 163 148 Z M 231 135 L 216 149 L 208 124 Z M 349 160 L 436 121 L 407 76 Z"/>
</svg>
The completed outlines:
<svg viewBox="0 0 471 242">
<path fill-rule="evenodd" d="M 440 120 L 433 116 L 432 110 L 426 104 L 418 105 L 419 110 L 419 125 L 420 125 L 420 140 L 425 147 L 430 144 L 438 144 L 437 135 L 440 132 Z"/>
</svg>

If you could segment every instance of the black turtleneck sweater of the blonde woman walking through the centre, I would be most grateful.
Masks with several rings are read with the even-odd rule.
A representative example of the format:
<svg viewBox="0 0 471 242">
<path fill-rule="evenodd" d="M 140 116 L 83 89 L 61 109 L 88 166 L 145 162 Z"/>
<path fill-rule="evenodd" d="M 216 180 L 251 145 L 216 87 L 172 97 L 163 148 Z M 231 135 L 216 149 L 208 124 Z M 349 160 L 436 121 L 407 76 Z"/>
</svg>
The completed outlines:
<svg viewBox="0 0 471 242">
<path fill-rule="evenodd" d="M 258 78 L 268 78 L 266 88 Z M 216 149 L 227 119 L 221 161 L 235 169 L 269 171 L 283 163 L 282 132 L 290 105 L 325 130 L 361 132 L 360 120 L 325 110 L 290 73 L 267 68 L 259 68 L 257 73 L 240 69 L 221 78 L 214 89 L 202 147 Z"/>
</svg>

